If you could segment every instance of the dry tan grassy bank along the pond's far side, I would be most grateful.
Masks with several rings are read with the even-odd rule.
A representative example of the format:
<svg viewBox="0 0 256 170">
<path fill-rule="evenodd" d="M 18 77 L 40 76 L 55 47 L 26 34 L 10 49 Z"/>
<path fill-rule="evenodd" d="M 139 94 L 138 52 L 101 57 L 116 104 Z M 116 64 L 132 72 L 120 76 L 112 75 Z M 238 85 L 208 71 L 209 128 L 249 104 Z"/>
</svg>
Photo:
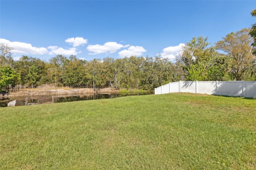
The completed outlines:
<svg viewBox="0 0 256 170">
<path fill-rule="evenodd" d="M 95 91 L 91 88 L 84 89 L 22 89 L 16 92 L 10 92 L 4 96 L 39 96 L 39 95 L 64 95 L 64 94 L 81 94 L 81 93 L 113 93 L 118 92 L 118 90 L 105 88 L 105 89 L 96 89 Z"/>
</svg>

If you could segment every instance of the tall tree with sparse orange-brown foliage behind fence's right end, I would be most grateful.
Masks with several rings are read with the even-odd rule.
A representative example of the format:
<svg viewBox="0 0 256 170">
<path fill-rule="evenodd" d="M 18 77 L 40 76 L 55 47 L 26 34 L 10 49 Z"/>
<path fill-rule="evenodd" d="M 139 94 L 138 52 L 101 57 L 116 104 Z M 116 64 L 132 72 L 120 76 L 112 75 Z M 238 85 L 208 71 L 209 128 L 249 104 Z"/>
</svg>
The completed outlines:
<svg viewBox="0 0 256 170">
<path fill-rule="evenodd" d="M 228 57 L 230 76 L 236 80 L 245 80 L 246 74 L 250 74 L 250 70 L 256 65 L 256 56 L 252 54 L 251 46 L 253 39 L 249 32 L 248 28 L 231 32 L 216 43 L 216 47 Z"/>
</svg>

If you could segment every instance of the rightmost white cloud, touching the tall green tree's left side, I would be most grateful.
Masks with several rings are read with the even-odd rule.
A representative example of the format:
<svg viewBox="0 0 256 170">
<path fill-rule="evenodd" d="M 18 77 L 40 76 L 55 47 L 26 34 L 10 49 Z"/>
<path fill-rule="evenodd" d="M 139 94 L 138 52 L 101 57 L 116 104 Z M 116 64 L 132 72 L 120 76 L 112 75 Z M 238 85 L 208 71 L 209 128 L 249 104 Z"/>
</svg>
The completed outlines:
<svg viewBox="0 0 256 170">
<path fill-rule="evenodd" d="M 174 60 L 175 57 L 182 51 L 182 47 L 184 43 L 180 43 L 177 46 L 170 46 L 163 49 L 163 52 L 160 53 L 161 57 L 168 58 L 170 60 Z"/>
</svg>

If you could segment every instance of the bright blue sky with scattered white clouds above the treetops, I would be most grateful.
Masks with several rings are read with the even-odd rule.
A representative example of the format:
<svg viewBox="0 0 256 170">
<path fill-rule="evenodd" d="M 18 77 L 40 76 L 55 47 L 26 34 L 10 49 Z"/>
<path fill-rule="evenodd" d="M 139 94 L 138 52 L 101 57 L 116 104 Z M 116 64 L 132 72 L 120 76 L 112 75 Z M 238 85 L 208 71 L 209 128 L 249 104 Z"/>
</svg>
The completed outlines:
<svg viewBox="0 0 256 170">
<path fill-rule="evenodd" d="M 193 37 L 211 45 L 256 23 L 255 0 L 0 0 L 0 43 L 48 61 L 136 55 L 175 60 Z"/>
</svg>

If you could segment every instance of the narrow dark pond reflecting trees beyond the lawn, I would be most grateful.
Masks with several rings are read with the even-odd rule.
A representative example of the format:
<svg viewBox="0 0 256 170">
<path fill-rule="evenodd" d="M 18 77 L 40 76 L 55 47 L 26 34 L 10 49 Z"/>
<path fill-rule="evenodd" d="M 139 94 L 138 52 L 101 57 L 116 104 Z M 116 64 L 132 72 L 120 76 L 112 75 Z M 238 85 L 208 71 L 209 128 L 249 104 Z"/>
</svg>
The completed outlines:
<svg viewBox="0 0 256 170">
<path fill-rule="evenodd" d="M 62 103 L 70 101 L 84 101 L 96 99 L 112 99 L 117 97 L 134 96 L 134 95 L 149 95 L 152 93 L 86 93 L 86 94 L 68 94 L 68 95 L 42 95 L 42 96 L 20 96 L 20 97 L 0 97 L 0 107 L 7 107 L 10 101 L 18 100 L 28 104 L 40 103 Z"/>
</svg>

